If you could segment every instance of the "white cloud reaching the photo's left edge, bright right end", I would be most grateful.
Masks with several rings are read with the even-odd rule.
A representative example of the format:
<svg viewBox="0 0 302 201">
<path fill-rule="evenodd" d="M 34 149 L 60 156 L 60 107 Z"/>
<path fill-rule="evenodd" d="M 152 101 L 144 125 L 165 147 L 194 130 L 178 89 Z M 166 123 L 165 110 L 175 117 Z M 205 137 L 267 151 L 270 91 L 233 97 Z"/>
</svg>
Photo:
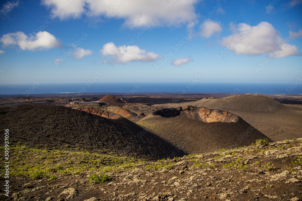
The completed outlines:
<svg viewBox="0 0 302 201">
<path fill-rule="evenodd" d="M 4 47 L 18 45 L 21 50 L 42 50 L 62 47 L 61 42 L 46 31 L 39 31 L 36 36 L 32 34 L 27 36 L 21 31 L 7 33 L 0 38 L 0 41 Z"/>
</svg>

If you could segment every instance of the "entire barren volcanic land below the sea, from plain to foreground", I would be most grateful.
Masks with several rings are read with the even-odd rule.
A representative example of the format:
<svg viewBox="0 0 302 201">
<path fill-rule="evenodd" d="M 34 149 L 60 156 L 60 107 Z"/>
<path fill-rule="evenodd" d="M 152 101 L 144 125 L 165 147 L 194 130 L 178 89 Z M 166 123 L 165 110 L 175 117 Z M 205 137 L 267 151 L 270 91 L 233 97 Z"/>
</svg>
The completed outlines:
<svg viewBox="0 0 302 201">
<path fill-rule="evenodd" d="M 301 95 L 107 95 L 0 96 L 8 199 L 302 199 Z"/>
</svg>

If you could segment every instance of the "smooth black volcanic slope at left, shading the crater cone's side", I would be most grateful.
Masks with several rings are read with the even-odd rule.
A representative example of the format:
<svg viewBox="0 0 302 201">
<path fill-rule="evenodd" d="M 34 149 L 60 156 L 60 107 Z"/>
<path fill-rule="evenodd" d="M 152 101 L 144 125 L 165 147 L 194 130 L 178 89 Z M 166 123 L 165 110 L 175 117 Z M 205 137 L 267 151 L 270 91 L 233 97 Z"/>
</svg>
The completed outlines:
<svg viewBox="0 0 302 201">
<path fill-rule="evenodd" d="M 107 119 L 63 106 L 0 108 L 0 120 L 2 130 L 14 133 L 11 140 L 31 147 L 107 149 L 147 160 L 165 158 L 176 149 L 125 118 Z M 178 151 L 177 155 L 183 152 Z"/>
</svg>

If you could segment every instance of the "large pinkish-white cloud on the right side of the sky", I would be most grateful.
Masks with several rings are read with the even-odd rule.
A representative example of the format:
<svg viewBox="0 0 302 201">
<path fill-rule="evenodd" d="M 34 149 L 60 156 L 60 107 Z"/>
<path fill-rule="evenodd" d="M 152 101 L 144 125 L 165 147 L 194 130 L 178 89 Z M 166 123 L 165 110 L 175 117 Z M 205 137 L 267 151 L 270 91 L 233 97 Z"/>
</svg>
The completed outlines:
<svg viewBox="0 0 302 201">
<path fill-rule="evenodd" d="M 284 42 L 285 39 L 268 22 L 257 26 L 240 23 L 237 32 L 223 37 L 221 44 L 237 55 L 260 55 L 267 53 L 271 58 L 300 55 L 297 46 Z"/>
</svg>

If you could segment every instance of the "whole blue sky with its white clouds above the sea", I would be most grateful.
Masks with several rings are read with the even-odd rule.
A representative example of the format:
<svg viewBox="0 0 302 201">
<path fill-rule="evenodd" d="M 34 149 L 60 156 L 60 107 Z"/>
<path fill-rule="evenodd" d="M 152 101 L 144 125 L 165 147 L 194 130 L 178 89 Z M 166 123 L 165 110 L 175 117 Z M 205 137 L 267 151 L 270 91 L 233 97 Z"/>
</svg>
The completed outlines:
<svg viewBox="0 0 302 201">
<path fill-rule="evenodd" d="M 0 8 L 0 84 L 85 83 L 97 73 L 95 82 L 107 83 L 196 74 L 293 83 L 302 75 L 301 0 L 13 0 Z"/>
</svg>

